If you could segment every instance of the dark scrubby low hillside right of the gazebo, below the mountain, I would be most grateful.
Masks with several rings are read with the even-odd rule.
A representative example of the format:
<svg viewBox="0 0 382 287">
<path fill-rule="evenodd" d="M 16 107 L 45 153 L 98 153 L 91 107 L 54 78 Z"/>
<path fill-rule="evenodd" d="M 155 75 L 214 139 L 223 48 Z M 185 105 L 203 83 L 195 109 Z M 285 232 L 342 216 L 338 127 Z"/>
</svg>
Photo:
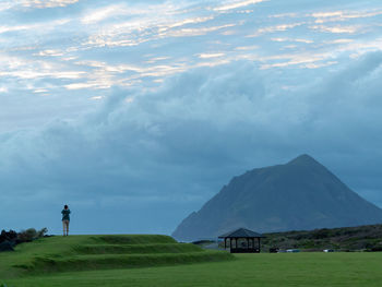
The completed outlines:
<svg viewBox="0 0 382 287">
<path fill-rule="evenodd" d="M 264 251 L 297 248 L 306 251 L 382 251 L 382 225 L 264 234 Z"/>
</svg>

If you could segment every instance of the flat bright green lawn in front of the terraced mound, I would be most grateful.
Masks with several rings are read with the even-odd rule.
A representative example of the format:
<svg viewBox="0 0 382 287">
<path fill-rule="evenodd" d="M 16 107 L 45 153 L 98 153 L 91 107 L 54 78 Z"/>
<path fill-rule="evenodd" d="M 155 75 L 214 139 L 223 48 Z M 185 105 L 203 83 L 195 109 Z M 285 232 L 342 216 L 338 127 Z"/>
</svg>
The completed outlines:
<svg viewBox="0 0 382 287">
<path fill-rule="evenodd" d="M 216 263 L 55 273 L 8 280 L 12 287 L 380 287 L 382 253 L 236 254 Z"/>
</svg>

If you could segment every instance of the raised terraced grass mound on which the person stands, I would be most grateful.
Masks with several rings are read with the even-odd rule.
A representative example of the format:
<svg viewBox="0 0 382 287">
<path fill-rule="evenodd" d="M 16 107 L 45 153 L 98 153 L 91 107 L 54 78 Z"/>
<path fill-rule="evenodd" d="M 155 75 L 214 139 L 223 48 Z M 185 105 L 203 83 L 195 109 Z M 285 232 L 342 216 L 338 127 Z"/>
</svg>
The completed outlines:
<svg viewBox="0 0 382 287">
<path fill-rule="evenodd" d="M 0 253 L 0 278 L 70 271 L 133 268 L 222 261 L 226 252 L 205 251 L 167 236 L 70 236 L 23 243 Z"/>
</svg>

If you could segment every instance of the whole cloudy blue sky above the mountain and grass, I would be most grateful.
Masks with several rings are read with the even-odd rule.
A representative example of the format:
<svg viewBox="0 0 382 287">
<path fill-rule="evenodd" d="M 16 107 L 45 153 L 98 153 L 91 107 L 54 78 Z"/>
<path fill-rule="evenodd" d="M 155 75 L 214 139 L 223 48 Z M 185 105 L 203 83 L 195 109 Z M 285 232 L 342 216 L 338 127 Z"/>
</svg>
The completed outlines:
<svg viewBox="0 0 382 287">
<path fill-rule="evenodd" d="M 309 154 L 382 207 L 379 0 L 0 1 L 0 229 L 171 234 Z"/>
</svg>

